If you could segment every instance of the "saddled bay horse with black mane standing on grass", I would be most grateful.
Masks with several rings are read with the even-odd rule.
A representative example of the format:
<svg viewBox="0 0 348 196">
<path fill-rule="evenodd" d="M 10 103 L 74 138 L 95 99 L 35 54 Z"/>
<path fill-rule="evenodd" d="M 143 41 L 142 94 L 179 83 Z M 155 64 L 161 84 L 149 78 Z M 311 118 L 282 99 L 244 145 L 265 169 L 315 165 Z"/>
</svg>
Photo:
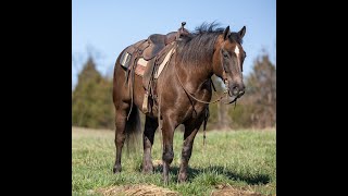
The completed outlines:
<svg viewBox="0 0 348 196">
<path fill-rule="evenodd" d="M 150 113 L 141 110 L 146 93 L 141 77 L 135 75 L 133 87 L 128 85 L 126 70 L 120 64 L 121 54 L 125 50 L 120 53 L 113 77 L 113 102 L 116 111 L 114 173 L 122 170 L 121 156 L 126 138 L 129 138 L 130 134 L 141 133 L 141 111 L 146 113 L 142 172 L 153 172 L 151 148 L 156 130 L 159 127 L 162 132 L 163 181 L 169 184 L 170 164 L 174 158 L 174 131 L 183 124 L 184 144 L 177 181 L 186 181 L 195 136 L 207 120 L 209 111 L 212 97 L 211 76 L 215 74 L 225 83 L 228 103 L 235 102 L 245 93 L 243 63 L 246 52 L 241 47 L 245 34 L 245 26 L 239 32 L 231 32 L 229 26 L 221 28 L 214 23 L 203 23 L 188 36 L 176 40 L 176 52 L 157 79 L 158 100 Z"/>
</svg>

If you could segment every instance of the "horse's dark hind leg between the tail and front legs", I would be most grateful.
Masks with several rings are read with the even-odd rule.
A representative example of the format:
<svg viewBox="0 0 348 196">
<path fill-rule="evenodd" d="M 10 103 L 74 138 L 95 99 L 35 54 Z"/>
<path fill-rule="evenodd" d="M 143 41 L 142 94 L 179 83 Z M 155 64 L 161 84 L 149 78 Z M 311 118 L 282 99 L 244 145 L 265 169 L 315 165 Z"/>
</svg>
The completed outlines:
<svg viewBox="0 0 348 196">
<path fill-rule="evenodd" d="M 145 130 L 144 130 L 144 161 L 142 161 L 142 172 L 151 173 L 153 171 L 153 164 L 151 159 L 151 148 L 153 145 L 153 137 L 157 127 L 159 126 L 157 119 L 151 119 L 146 117 Z"/>
</svg>

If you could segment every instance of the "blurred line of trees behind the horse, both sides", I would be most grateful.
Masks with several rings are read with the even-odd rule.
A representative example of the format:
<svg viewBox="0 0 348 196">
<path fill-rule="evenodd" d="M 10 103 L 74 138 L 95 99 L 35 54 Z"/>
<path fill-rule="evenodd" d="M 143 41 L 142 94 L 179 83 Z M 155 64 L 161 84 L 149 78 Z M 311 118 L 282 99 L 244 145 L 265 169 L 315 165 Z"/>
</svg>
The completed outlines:
<svg viewBox="0 0 348 196">
<path fill-rule="evenodd" d="M 223 93 L 221 79 L 212 77 L 217 93 Z M 274 127 L 276 121 L 276 69 L 269 54 L 259 56 L 252 71 L 244 78 L 246 93 L 236 106 L 223 102 L 209 106 L 207 130 Z M 72 91 L 72 125 L 114 130 L 115 111 L 112 102 L 112 78 L 101 75 L 90 56 L 78 74 Z M 140 112 L 141 113 L 141 112 Z M 141 124 L 144 125 L 144 115 Z"/>
</svg>

